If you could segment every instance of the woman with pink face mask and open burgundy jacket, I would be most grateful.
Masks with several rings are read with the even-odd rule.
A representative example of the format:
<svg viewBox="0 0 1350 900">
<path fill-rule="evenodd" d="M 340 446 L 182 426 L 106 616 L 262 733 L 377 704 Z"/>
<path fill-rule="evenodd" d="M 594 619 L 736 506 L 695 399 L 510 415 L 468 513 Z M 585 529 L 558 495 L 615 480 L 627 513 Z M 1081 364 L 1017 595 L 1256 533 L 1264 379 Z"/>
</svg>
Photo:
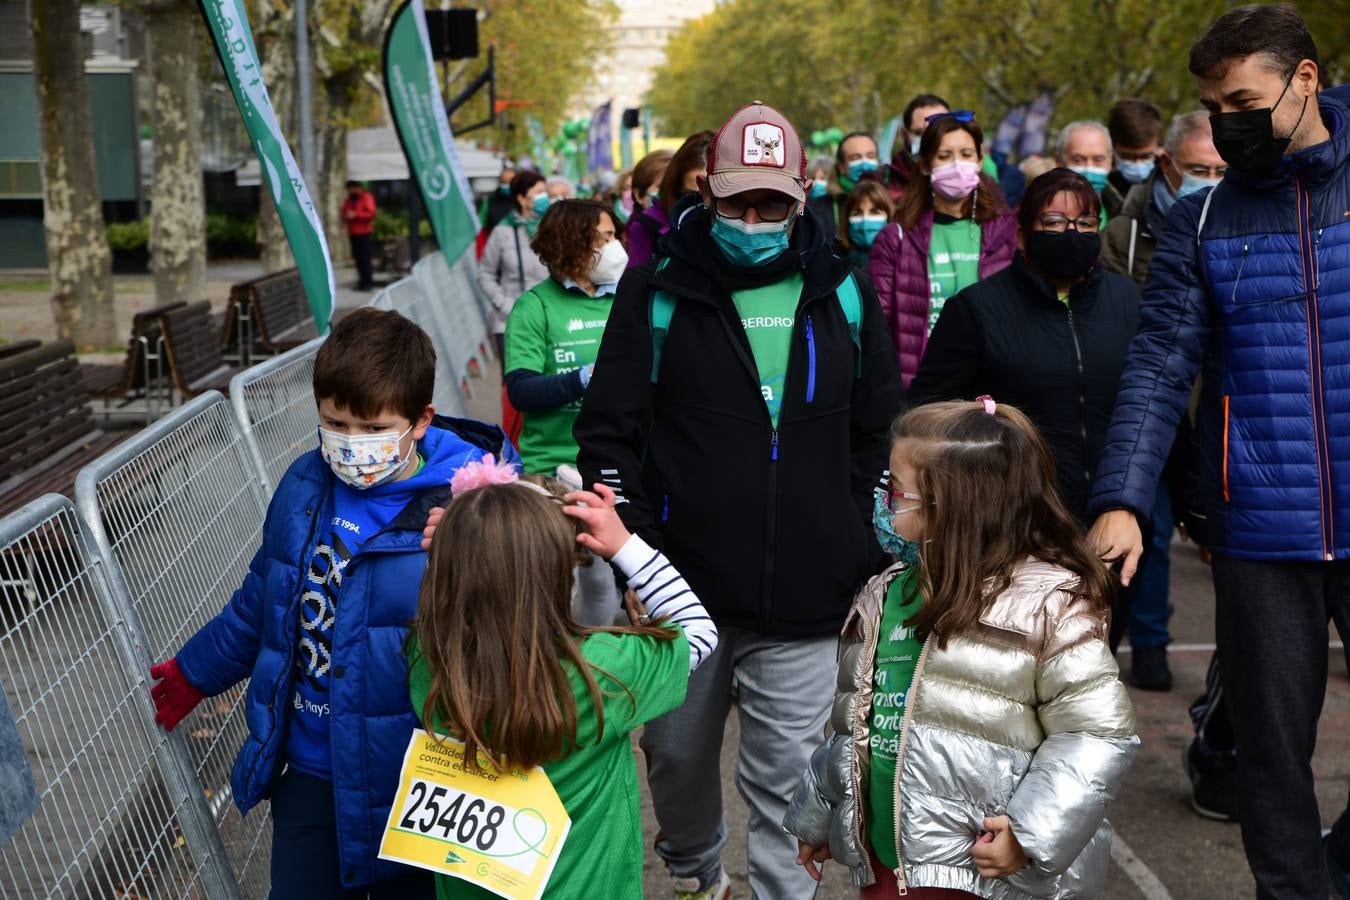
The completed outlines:
<svg viewBox="0 0 1350 900">
<path fill-rule="evenodd" d="M 906 389 L 942 305 L 1007 267 L 1017 250 L 1017 220 L 998 184 L 980 173 L 983 143 L 984 131 L 969 109 L 930 116 L 895 221 L 872 243 L 868 274 Z"/>
</svg>

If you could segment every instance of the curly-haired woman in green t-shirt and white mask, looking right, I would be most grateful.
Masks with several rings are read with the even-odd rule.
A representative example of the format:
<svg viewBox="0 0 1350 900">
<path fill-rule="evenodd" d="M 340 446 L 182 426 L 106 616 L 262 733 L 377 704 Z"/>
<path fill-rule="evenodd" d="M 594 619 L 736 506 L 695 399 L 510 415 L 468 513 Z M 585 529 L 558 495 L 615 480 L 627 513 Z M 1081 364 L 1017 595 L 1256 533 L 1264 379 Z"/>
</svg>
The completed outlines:
<svg viewBox="0 0 1350 900">
<path fill-rule="evenodd" d="M 595 368 L 599 339 L 628 254 L 613 212 L 594 200 L 562 200 L 548 208 L 531 248 L 548 278 L 516 301 L 506 320 L 506 395 L 520 410 L 525 471 L 558 475 L 579 487 L 572 424 Z M 618 590 L 609 567 L 579 571 L 583 625 L 609 625 Z"/>
</svg>

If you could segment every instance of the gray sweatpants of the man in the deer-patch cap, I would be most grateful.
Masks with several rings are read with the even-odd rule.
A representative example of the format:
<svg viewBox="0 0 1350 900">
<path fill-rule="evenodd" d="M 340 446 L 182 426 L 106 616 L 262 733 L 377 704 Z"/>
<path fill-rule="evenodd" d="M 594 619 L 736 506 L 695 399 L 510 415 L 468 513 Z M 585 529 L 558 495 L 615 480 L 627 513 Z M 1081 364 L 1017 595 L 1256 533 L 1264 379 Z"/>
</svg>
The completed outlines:
<svg viewBox="0 0 1350 900">
<path fill-rule="evenodd" d="M 671 876 L 716 884 L 722 868 L 722 731 L 732 704 L 741 725 L 736 788 L 749 806 L 751 892 L 760 900 L 814 897 L 783 831 L 787 801 L 819 746 L 834 696 L 837 638 L 720 627 L 717 650 L 688 680 L 678 710 L 647 723 L 641 746 Z"/>
</svg>

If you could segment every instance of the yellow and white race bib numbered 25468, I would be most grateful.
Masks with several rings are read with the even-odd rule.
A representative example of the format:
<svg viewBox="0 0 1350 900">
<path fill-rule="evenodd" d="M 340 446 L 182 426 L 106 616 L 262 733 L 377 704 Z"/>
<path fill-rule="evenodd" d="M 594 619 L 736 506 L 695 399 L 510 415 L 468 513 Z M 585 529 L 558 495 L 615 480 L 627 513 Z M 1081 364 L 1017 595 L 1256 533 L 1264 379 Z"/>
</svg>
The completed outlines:
<svg viewBox="0 0 1350 900">
<path fill-rule="evenodd" d="M 413 731 L 379 857 L 537 900 L 572 820 L 543 769 L 464 769 L 464 745 Z"/>
</svg>

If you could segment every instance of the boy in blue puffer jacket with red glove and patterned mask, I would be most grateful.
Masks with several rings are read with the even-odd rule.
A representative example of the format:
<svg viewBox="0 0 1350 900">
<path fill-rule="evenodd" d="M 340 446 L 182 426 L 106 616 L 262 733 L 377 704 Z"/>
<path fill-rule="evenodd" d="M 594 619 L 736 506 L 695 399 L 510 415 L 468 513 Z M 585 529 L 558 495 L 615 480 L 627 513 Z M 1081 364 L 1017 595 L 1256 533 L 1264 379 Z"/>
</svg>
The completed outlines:
<svg viewBox="0 0 1350 900">
<path fill-rule="evenodd" d="M 273 897 L 432 897 L 432 876 L 377 858 L 408 739 L 404 638 L 427 513 L 467 461 L 518 457 L 501 429 L 435 416 L 436 352 L 394 312 L 343 318 L 315 359 L 319 447 L 271 498 L 243 586 L 151 669 L 155 721 L 250 677 L 232 788 L 271 797 Z M 342 815 L 338 815 L 342 810 Z"/>
</svg>

